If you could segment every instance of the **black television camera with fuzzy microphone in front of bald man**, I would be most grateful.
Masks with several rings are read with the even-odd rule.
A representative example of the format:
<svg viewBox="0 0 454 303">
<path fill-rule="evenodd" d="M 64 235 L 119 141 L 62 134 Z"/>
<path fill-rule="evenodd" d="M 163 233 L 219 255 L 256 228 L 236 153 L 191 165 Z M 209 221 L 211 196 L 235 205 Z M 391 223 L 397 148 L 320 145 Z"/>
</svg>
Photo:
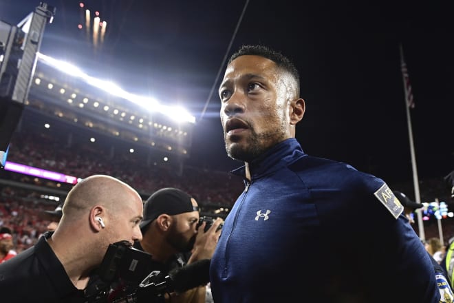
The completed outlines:
<svg viewBox="0 0 454 303">
<path fill-rule="evenodd" d="M 153 270 L 151 255 L 127 241 L 110 244 L 93 283 L 89 303 L 164 302 L 165 293 L 182 293 L 209 280 L 210 260 L 199 260 L 168 274 Z"/>
</svg>

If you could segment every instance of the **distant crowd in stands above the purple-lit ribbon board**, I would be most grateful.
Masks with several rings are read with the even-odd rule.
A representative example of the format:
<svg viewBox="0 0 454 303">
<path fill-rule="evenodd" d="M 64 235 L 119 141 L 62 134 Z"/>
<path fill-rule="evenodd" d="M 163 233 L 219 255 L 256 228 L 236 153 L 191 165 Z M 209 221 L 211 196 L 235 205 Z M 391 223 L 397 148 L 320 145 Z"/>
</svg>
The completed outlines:
<svg viewBox="0 0 454 303">
<path fill-rule="evenodd" d="M 177 187 L 193 194 L 202 205 L 230 207 L 243 190 L 242 181 L 228 171 L 206 171 L 186 165 L 184 174 L 179 176 L 171 167 L 139 161 L 133 155 L 109 156 L 87 143 L 62 145 L 44 134 L 15 133 L 8 160 L 79 178 L 107 174 L 127 182 L 145 196 L 162 187 Z"/>
</svg>

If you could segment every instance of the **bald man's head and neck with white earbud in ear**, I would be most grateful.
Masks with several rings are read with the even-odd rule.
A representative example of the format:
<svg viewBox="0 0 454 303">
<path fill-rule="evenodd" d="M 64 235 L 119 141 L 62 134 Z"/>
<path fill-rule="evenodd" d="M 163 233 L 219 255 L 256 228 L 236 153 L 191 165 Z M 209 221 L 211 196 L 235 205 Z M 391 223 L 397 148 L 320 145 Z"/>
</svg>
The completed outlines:
<svg viewBox="0 0 454 303">
<path fill-rule="evenodd" d="M 92 269 L 109 244 L 142 240 L 142 213 L 142 198 L 131 186 L 111 176 L 89 176 L 69 191 L 51 247 L 63 262 L 84 260 Z"/>
</svg>

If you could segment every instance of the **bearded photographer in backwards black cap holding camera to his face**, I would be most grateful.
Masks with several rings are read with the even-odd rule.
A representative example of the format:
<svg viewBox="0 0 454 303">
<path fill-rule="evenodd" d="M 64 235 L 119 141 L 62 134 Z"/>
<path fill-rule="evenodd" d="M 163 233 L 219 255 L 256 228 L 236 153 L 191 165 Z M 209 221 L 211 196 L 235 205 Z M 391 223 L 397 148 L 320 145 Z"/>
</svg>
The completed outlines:
<svg viewBox="0 0 454 303">
<path fill-rule="evenodd" d="M 211 222 L 201 225 L 198 222 L 199 207 L 194 198 L 180 189 L 160 189 L 144 204 L 144 220 L 140 224 L 143 238 L 135 247 L 150 253 L 153 270 L 164 273 L 197 260 L 210 259 L 221 233 L 218 227 L 222 220 L 214 220 L 206 232 L 204 228 Z M 165 300 L 204 303 L 205 295 L 206 286 L 199 286 L 184 293 L 171 293 L 171 297 L 165 295 Z"/>
</svg>

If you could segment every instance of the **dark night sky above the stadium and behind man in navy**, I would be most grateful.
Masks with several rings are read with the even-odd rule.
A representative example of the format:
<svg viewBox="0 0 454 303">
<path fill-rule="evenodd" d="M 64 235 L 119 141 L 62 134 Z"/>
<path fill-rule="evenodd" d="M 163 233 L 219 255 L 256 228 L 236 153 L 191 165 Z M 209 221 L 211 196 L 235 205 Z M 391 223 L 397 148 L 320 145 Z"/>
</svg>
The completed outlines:
<svg viewBox="0 0 454 303">
<path fill-rule="evenodd" d="M 225 60 L 241 44 L 269 45 L 301 73 L 306 112 L 296 136 L 307 154 L 411 180 L 402 43 L 418 174 L 441 178 L 454 169 L 454 3 L 365 2 L 87 1 L 107 21 L 95 48 L 77 28 L 78 1 L 47 1 L 56 15 L 41 52 L 129 92 L 183 105 L 197 118 L 188 163 L 224 170 L 240 164 L 226 156 L 219 123 Z M 38 4 L 1 0 L 0 19 L 18 23 Z"/>
</svg>

